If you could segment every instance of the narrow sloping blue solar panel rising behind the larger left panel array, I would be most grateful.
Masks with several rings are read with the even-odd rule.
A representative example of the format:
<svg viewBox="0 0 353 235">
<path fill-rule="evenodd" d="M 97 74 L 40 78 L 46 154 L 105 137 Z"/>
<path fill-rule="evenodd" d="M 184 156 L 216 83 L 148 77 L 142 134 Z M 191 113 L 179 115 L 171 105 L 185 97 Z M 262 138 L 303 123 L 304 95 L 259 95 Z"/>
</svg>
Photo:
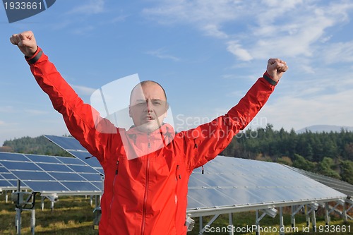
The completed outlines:
<svg viewBox="0 0 353 235">
<path fill-rule="evenodd" d="M 63 148 L 74 157 L 77 157 L 81 161 L 97 169 L 101 174 L 104 174 L 103 168 L 97 158 L 93 157 L 75 138 L 56 135 L 44 135 L 44 137 Z"/>
</svg>

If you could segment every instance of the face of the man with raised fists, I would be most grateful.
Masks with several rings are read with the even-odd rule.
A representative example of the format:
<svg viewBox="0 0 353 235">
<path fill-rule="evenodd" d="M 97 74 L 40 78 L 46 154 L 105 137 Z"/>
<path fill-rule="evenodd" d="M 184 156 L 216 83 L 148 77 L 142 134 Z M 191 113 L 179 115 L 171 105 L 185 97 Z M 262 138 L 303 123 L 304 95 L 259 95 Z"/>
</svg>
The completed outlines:
<svg viewBox="0 0 353 235">
<path fill-rule="evenodd" d="M 138 85 L 131 94 L 130 102 L 129 114 L 139 131 L 149 133 L 160 128 L 168 109 L 160 85 L 152 82 Z"/>
</svg>

